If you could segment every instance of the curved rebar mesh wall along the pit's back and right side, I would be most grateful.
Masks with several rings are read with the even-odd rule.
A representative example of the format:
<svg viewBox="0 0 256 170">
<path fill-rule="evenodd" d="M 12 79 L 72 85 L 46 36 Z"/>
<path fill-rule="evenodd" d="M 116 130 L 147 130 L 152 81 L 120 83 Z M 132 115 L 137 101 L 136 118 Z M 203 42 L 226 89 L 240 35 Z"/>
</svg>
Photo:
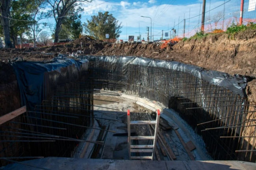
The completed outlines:
<svg viewBox="0 0 256 170">
<path fill-rule="evenodd" d="M 89 72 L 94 88 L 148 98 L 174 109 L 174 116 L 212 159 L 255 162 L 255 102 L 161 67 L 90 61 Z"/>
</svg>

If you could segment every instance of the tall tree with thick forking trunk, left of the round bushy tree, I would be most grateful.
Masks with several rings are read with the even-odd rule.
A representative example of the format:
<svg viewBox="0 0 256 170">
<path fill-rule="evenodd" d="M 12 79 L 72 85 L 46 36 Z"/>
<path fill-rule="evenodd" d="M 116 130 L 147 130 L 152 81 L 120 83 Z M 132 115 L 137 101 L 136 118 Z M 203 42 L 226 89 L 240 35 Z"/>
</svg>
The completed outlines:
<svg viewBox="0 0 256 170">
<path fill-rule="evenodd" d="M 83 2 L 92 2 L 92 0 L 46 0 L 46 2 L 48 2 L 51 8 L 48 11 L 48 15 L 53 16 L 56 21 L 54 42 L 58 42 L 61 25 L 70 9 L 75 9 L 77 6 L 82 5 Z"/>
</svg>

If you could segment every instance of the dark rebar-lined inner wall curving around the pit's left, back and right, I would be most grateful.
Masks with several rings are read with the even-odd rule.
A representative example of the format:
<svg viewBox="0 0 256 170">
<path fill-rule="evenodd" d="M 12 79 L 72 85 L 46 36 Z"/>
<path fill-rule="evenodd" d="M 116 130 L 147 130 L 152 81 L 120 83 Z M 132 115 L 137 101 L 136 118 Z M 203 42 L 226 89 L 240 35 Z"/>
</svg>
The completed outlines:
<svg viewBox="0 0 256 170">
<path fill-rule="evenodd" d="M 55 142 L 20 142 L 15 144 L 16 148 L 13 143 L 4 143 L 6 154 L 1 152 L 3 157 L 20 155 L 20 152 L 24 156 L 79 157 L 85 143 L 80 140 L 87 139 L 94 124 L 93 94 L 98 92 L 95 89 L 102 89 L 147 98 L 164 108 L 175 110 L 174 116 L 186 125 L 200 147 L 214 160 L 255 162 L 253 152 L 236 152 L 254 148 L 244 137 L 234 137 L 243 136 L 248 130 L 252 131 L 249 129 L 251 124 L 245 122 L 245 110 L 254 109 L 246 98 L 237 93 L 189 73 L 154 65 L 122 64 L 89 58 L 88 68 L 78 73 L 81 75 L 76 76 L 75 81 L 72 81 L 69 68 L 65 72 L 62 78 L 58 78 L 61 86 L 57 89 L 49 89 L 56 85 L 56 82 L 51 82 L 51 77 L 56 72 L 49 73 L 45 100 L 41 101 L 41 105 L 35 106 L 34 110 L 27 112 L 26 116 L 9 124 L 9 127 L 27 130 L 27 133 L 33 131 L 40 135 L 48 134 L 48 137 L 50 134 L 50 137 L 60 136 L 59 139 L 63 140 L 55 137 Z M 76 116 L 80 116 L 79 119 L 75 119 Z M 63 130 L 63 123 L 66 130 Z M 18 132 L 9 127 L 5 127 L 5 131 L 10 132 L 9 135 L 11 132 Z M 207 128 L 215 129 L 206 130 Z M 105 131 L 101 130 L 102 133 L 108 130 L 107 127 L 103 129 Z M 255 132 L 251 135 L 255 136 Z M 12 139 L 20 138 L 14 136 Z M 100 143 L 97 145 L 101 146 Z M 10 150 L 11 154 L 7 154 Z M 2 165 L 4 164 L 2 161 Z"/>
</svg>

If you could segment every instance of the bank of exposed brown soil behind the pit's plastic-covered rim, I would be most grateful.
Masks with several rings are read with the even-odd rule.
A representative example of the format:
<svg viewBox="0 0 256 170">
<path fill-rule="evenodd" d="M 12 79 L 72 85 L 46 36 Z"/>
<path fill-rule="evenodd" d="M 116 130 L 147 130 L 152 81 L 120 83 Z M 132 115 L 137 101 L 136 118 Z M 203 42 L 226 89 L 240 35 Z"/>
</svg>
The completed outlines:
<svg viewBox="0 0 256 170">
<path fill-rule="evenodd" d="M 83 37 L 64 45 L 42 48 L 26 49 L 2 49 L 0 50 L 0 80 L 9 82 L 11 71 L 3 76 L 3 70 L 9 70 L 6 66 L 9 59 L 23 57 L 24 60 L 49 60 L 61 54 L 84 55 L 116 55 L 116 56 L 143 56 L 158 60 L 180 61 L 192 65 L 204 67 L 231 75 L 242 74 L 256 76 L 256 30 L 237 33 L 234 39 L 228 38 L 228 34 L 213 34 L 200 39 L 191 39 L 179 42 L 174 46 L 160 48 L 157 43 L 106 43 L 102 41 L 88 40 Z M 51 53 L 47 55 L 47 53 Z M 3 80 L 4 79 L 4 80 Z M 2 83 L 0 82 L 0 83 Z M 256 81 L 251 81 L 247 87 L 247 94 L 252 98 L 252 91 L 256 91 Z"/>
</svg>

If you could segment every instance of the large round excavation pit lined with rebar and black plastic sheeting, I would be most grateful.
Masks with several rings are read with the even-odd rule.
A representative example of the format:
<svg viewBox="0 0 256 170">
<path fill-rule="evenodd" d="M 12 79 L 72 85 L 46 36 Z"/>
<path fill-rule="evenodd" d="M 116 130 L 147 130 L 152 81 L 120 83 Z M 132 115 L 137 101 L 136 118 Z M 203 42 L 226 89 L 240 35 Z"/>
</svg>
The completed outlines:
<svg viewBox="0 0 256 170">
<path fill-rule="evenodd" d="M 26 111 L 0 125 L 6 170 L 256 167 L 249 76 L 119 56 L 12 65 Z"/>
</svg>

